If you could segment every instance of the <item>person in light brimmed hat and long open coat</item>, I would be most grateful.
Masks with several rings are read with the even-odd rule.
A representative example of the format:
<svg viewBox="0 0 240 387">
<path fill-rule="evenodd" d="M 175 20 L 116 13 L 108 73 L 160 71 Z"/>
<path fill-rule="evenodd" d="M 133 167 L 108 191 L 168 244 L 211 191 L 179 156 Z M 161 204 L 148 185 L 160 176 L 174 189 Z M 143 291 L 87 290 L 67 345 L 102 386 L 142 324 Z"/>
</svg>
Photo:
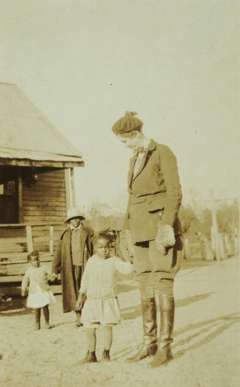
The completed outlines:
<svg viewBox="0 0 240 387">
<path fill-rule="evenodd" d="M 57 279 L 57 274 L 61 271 L 63 312 L 76 312 L 77 327 L 83 325 L 80 320 L 81 311 L 75 310 L 81 277 L 88 258 L 93 254 L 91 237 L 94 231 L 86 227 L 83 220 L 85 217 L 76 207 L 68 210 L 64 223 L 70 224 L 70 227 L 61 235 L 52 261 L 53 280 Z"/>
</svg>

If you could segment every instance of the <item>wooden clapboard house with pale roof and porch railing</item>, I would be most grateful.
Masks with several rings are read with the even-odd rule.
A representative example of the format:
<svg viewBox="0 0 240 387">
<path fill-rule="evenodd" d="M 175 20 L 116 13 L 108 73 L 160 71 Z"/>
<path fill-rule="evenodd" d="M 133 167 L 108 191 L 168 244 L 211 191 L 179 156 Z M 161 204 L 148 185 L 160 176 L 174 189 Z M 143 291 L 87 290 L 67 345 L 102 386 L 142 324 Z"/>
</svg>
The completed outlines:
<svg viewBox="0 0 240 387">
<path fill-rule="evenodd" d="M 0 282 L 19 281 L 27 253 L 52 254 L 75 205 L 76 149 L 14 84 L 0 83 Z"/>
</svg>

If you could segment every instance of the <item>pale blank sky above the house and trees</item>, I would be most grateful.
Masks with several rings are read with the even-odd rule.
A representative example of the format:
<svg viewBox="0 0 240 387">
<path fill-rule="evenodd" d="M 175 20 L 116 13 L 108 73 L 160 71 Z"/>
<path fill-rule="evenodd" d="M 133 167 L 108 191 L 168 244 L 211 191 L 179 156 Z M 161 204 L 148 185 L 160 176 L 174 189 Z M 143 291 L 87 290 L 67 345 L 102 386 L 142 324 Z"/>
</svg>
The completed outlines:
<svg viewBox="0 0 240 387">
<path fill-rule="evenodd" d="M 125 111 L 175 153 L 184 203 L 239 197 L 239 16 L 232 0 L 0 0 L 0 81 L 83 154 L 79 207 L 125 206 Z"/>
</svg>

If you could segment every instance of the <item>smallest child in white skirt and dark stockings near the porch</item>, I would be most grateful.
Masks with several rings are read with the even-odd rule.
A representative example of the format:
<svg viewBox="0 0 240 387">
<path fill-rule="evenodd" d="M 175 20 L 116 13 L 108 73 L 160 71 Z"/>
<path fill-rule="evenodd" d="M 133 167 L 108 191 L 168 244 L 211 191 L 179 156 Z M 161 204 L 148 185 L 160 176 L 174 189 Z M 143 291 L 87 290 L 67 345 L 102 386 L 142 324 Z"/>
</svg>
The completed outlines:
<svg viewBox="0 0 240 387">
<path fill-rule="evenodd" d="M 47 281 L 47 270 L 40 264 L 39 252 L 33 251 L 27 256 L 30 267 L 25 272 L 22 280 L 22 296 L 26 294 L 27 286 L 29 293 L 27 297 L 27 307 L 35 309 L 35 330 L 40 329 L 41 308 L 45 318 L 45 328 L 51 328 L 49 324 L 48 305 L 56 303 Z"/>
</svg>

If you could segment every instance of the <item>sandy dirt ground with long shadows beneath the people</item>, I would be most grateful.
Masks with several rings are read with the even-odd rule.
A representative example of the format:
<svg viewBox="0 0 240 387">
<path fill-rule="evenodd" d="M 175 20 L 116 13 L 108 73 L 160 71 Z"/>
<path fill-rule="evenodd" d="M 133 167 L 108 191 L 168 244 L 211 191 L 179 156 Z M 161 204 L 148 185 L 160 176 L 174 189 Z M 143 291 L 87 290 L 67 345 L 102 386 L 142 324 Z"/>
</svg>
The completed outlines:
<svg viewBox="0 0 240 387">
<path fill-rule="evenodd" d="M 62 313 L 61 295 L 50 307 L 55 325 L 50 330 L 33 331 L 34 314 L 27 309 L 3 310 L 1 386 L 240 385 L 239 258 L 188 269 L 183 265 L 175 296 L 174 360 L 154 369 L 148 367 L 149 358 L 125 363 L 142 341 L 140 298 L 132 280 L 119 283 L 122 324 L 113 331 L 110 363 L 79 365 L 87 350 L 85 329 L 74 326 L 73 312 Z M 99 328 L 98 359 L 102 350 Z"/>
</svg>

